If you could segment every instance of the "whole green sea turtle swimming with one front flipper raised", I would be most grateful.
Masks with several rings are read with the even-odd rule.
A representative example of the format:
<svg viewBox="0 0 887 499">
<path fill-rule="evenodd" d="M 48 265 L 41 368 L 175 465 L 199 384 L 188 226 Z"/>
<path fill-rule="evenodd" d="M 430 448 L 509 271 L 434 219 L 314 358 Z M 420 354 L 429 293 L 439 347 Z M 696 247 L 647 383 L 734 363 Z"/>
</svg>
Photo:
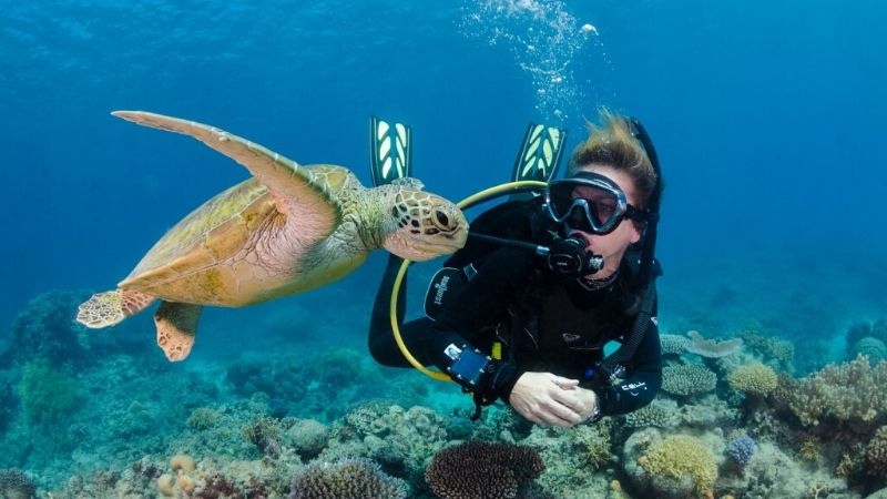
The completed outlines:
<svg viewBox="0 0 887 499">
<path fill-rule="evenodd" d="M 465 245 L 461 211 L 415 179 L 367 189 L 348 169 L 302 166 L 213 126 L 112 114 L 191 135 L 253 175 L 179 222 L 116 289 L 80 305 L 78 322 L 100 328 L 161 299 L 157 345 L 170 360 L 187 357 L 204 305 L 241 307 L 313 289 L 348 275 L 377 248 L 424 261 Z"/>
</svg>

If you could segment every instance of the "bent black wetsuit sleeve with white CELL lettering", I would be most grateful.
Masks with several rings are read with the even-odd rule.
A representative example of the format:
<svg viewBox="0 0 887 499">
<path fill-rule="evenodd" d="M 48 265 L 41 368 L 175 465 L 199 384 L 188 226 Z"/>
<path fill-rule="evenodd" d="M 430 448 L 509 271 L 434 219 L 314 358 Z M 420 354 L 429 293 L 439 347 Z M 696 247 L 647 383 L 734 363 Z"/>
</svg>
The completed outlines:
<svg viewBox="0 0 887 499">
<path fill-rule="evenodd" d="M 626 366 L 628 377 L 618 385 L 598 388 L 601 415 L 615 416 L 646 406 L 662 387 L 662 348 L 659 327 L 651 319 L 634 358 Z"/>
</svg>

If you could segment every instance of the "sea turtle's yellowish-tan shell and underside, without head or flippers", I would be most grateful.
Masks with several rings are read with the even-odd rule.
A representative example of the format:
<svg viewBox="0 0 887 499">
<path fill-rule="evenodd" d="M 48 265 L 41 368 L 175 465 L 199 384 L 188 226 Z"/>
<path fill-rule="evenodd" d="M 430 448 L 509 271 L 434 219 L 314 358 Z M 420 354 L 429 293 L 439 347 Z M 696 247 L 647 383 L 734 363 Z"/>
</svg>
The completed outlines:
<svg viewBox="0 0 887 499">
<path fill-rule="evenodd" d="M 325 268 L 299 268 L 302 257 L 341 225 L 340 196 L 347 197 L 343 191 L 353 190 L 349 180 L 356 182 L 340 166 L 304 169 L 310 171 L 316 187 L 328 194 L 324 197 L 334 207 L 333 220 L 310 205 L 282 203 L 264 184 L 249 179 L 179 222 L 119 287 L 171 302 L 243 306 L 316 287 L 349 272 L 364 258 L 334 254 L 326 258 Z M 317 220 L 312 220 L 314 215 Z M 299 218 L 299 230 L 294 230 L 294 218 Z M 345 262 L 337 264 L 337 257 Z"/>
</svg>

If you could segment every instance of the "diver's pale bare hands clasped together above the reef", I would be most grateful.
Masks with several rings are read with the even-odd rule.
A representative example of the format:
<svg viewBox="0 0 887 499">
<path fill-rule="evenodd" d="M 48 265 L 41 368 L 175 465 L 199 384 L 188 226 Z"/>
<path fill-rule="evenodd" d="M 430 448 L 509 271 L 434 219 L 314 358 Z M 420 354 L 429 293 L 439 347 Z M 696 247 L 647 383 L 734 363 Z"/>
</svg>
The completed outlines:
<svg viewBox="0 0 887 499">
<path fill-rule="evenodd" d="M 578 379 L 551 373 L 524 373 L 511 389 L 508 403 L 538 425 L 570 427 L 588 419 L 594 410 L 594 406 L 588 407 L 584 391 L 591 390 L 579 388 Z"/>
</svg>

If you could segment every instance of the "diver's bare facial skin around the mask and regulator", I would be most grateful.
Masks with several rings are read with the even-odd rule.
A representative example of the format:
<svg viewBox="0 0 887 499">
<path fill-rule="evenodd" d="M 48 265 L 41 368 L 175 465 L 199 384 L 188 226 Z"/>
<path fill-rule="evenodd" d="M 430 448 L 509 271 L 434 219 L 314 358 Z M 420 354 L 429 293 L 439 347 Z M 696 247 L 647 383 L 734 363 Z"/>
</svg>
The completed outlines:
<svg viewBox="0 0 887 499">
<path fill-rule="evenodd" d="M 634 182 L 626 173 L 615 170 L 612 166 L 597 163 L 582 166 L 580 170 L 583 172 L 597 173 L 610 179 L 625 193 L 629 204 L 638 206 L 639 200 L 634 189 Z M 583 189 L 590 192 L 582 192 Z M 578 186 L 575 191 L 575 197 L 589 197 L 593 194 L 591 192 L 592 189 L 585 186 Z M 593 278 L 603 278 L 616 272 L 619 265 L 622 263 L 622 257 L 625 255 L 625 249 L 628 249 L 631 244 L 641 240 L 641 226 L 634 221 L 625 218 L 610 234 L 599 235 L 571 228 L 569 235 L 579 235 L 588 243 L 589 252 L 603 256 L 604 267 L 594 275 L 589 276 Z"/>
</svg>

